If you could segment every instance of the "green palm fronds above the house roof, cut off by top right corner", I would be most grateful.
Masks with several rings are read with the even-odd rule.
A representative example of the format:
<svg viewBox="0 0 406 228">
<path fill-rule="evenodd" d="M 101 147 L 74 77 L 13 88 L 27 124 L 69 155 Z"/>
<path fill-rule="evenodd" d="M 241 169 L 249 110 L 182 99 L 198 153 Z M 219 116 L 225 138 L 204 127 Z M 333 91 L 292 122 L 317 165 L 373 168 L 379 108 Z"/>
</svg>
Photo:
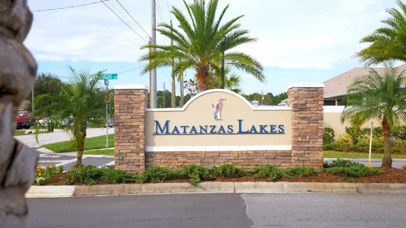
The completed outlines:
<svg viewBox="0 0 406 228">
<path fill-rule="evenodd" d="M 400 10 L 386 10 L 391 15 L 381 21 L 386 27 L 378 28 L 361 39 L 360 43 L 372 43 L 355 54 L 365 65 L 379 64 L 391 59 L 406 62 L 406 5 L 400 0 L 397 5 Z"/>
</svg>

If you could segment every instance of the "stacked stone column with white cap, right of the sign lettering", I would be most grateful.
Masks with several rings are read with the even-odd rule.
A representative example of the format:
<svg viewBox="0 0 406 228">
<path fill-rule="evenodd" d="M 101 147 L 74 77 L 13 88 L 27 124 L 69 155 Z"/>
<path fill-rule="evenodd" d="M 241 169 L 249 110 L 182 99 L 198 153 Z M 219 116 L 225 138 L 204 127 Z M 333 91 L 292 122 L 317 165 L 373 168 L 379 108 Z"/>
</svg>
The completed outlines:
<svg viewBox="0 0 406 228">
<path fill-rule="evenodd" d="M 300 83 L 288 86 L 292 107 L 292 166 L 323 168 L 324 84 Z"/>
</svg>

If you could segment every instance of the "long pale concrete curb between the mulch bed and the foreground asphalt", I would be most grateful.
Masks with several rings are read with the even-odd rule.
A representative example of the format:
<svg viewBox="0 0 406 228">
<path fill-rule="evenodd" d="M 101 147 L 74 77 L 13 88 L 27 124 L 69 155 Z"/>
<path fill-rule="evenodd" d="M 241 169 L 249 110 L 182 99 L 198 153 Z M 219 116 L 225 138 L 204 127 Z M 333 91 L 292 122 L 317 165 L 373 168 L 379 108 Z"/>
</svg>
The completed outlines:
<svg viewBox="0 0 406 228">
<path fill-rule="evenodd" d="M 189 183 L 106 184 L 77 186 L 31 186 L 26 197 L 117 196 L 170 193 L 340 193 L 404 194 L 406 184 L 318 183 L 318 182 L 201 182 Z"/>
</svg>

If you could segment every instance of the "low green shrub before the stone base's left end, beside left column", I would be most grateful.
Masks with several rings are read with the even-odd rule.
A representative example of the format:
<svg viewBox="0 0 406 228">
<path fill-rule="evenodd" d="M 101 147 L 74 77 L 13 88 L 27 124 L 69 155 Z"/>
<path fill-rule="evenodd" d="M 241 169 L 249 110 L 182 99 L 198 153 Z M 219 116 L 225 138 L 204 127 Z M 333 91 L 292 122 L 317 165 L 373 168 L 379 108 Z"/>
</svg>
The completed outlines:
<svg viewBox="0 0 406 228">
<path fill-rule="evenodd" d="M 136 176 L 135 180 L 139 183 L 152 182 L 158 183 L 164 180 L 176 179 L 179 176 L 179 170 L 171 170 L 168 168 L 154 166 L 148 168 L 143 173 Z"/>
</svg>

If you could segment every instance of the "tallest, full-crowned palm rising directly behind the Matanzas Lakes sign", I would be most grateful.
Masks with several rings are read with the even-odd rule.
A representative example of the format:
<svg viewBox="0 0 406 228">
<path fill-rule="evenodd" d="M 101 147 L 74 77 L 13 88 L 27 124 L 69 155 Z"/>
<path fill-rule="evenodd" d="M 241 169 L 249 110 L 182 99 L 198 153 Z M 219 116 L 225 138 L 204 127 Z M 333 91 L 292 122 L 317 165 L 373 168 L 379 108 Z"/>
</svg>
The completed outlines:
<svg viewBox="0 0 406 228">
<path fill-rule="evenodd" d="M 256 42 L 257 39 L 248 36 L 249 31 L 240 29 L 241 25 L 236 23 L 243 15 L 221 25 L 229 5 L 216 19 L 218 0 L 210 0 L 207 9 L 204 0 L 194 0 L 192 4 L 184 1 L 184 4 L 192 23 L 189 23 L 179 9 L 172 7 L 171 13 L 178 20 L 180 29 L 163 23 L 156 30 L 174 40 L 174 45 L 141 47 L 156 49 L 140 57 L 140 61 L 148 62 L 142 73 L 153 68 L 169 67 L 174 60 L 178 75 L 182 75 L 187 69 L 196 71 L 198 91 L 202 92 L 208 89 L 210 70 L 220 70 L 216 63 L 221 62 L 223 52 L 242 44 Z M 260 82 L 265 82 L 262 65 L 250 55 L 237 51 L 227 52 L 224 54 L 224 62 L 228 67 L 243 70 Z"/>
</svg>

